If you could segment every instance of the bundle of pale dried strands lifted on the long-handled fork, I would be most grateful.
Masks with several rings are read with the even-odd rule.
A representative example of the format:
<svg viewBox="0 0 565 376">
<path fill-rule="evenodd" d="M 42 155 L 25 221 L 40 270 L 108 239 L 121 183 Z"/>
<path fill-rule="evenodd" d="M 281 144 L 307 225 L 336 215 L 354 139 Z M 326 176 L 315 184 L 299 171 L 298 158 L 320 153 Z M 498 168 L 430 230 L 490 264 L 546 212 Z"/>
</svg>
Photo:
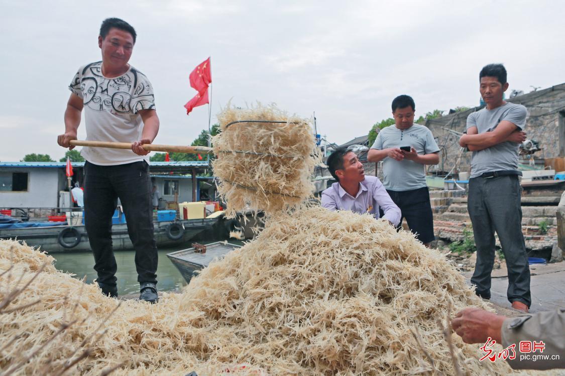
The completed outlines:
<svg viewBox="0 0 565 376">
<path fill-rule="evenodd" d="M 308 120 L 275 105 L 228 104 L 218 121 L 212 169 L 228 217 L 247 205 L 266 213 L 293 208 L 312 194 L 311 174 L 321 159 Z"/>
</svg>

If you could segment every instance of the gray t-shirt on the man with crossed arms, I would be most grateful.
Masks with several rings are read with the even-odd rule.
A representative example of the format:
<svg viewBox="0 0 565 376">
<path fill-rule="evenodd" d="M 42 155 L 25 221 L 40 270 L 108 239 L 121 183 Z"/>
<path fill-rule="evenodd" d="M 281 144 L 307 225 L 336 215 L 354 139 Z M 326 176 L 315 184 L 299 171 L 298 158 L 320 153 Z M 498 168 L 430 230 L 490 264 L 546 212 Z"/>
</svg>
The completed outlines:
<svg viewBox="0 0 565 376">
<path fill-rule="evenodd" d="M 503 106 L 472 112 L 467 117 L 467 129 L 477 127 L 479 134 L 492 132 L 502 120 L 510 121 L 520 130 L 526 125 L 528 111 L 521 104 L 507 102 Z M 518 147 L 516 142 L 505 141 L 483 150 L 473 151 L 471 156 L 471 178 L 484 172 L 517 170 Z"/>
</svg>

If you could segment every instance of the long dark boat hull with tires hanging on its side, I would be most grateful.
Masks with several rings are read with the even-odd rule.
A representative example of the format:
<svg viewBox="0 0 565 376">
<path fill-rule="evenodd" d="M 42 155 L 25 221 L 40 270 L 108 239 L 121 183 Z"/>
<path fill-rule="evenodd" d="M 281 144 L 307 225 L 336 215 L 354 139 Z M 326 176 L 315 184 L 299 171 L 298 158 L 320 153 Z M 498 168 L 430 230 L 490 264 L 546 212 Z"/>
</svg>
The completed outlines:
<svg viewBox="0 0 565 376">
<path fill-rule="evenodd" d="M 190 241 L 195 235 L 210 229 L 220 216 L 153 222 L 157 247 L 172 247 Z M 0 239 L 18 239 L 28 246 L 41 247 L 49 253 L 90 251 L 90 243 L 84 224 L 68 225 L 67 222 L 29 221 L 7 226 L 0 224 Z M 112 224 L 114 250 L 133 250 L 126 223 Z"/>
</svg>

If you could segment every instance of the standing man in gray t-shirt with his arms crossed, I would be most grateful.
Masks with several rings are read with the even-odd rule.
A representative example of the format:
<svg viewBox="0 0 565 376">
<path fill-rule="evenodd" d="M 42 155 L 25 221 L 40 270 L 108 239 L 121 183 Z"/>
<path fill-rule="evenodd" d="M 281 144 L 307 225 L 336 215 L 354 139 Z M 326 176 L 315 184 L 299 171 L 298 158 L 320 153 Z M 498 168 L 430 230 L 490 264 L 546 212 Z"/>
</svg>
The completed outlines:
<svg viewBox="0 0 565 376">
<path fill-rule="evenodd" d="M 512 308 L 528 312 L 532 300 L 518 179 L 518 144 L 525 140 L 527 111 L 503 99 L 508 82 L 502 64 L 486 65 L 479 80 L 486 107 L 468 116 L 467 134 L 459 139 L 459 145 L 473 152 L 467 208 L 477 261 L 471 283 L 477 295 L 490 299 L 496 230 L 508 269 L 507 298 Z"/>
</svg>

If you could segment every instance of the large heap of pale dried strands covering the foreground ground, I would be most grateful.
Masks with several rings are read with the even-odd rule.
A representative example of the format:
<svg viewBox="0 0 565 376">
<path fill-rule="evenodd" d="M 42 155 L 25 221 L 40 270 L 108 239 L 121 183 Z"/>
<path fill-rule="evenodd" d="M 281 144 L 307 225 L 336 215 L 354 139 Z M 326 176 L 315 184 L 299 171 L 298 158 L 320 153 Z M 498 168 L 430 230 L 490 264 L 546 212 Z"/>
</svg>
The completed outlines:
<svg viewBox="0 0 565 376">
<path fill-rule="evenodd" d="M 466 374 L 512 372 L 446 341 L 450 313 L 488 307 L 445 256 L 369 215 L 280 213 L 155 305 L 116 308 L 45 253 L 14 241 L 0 251 L 4 372 L 452 375 L 453 358 Z"/>
</svg>

